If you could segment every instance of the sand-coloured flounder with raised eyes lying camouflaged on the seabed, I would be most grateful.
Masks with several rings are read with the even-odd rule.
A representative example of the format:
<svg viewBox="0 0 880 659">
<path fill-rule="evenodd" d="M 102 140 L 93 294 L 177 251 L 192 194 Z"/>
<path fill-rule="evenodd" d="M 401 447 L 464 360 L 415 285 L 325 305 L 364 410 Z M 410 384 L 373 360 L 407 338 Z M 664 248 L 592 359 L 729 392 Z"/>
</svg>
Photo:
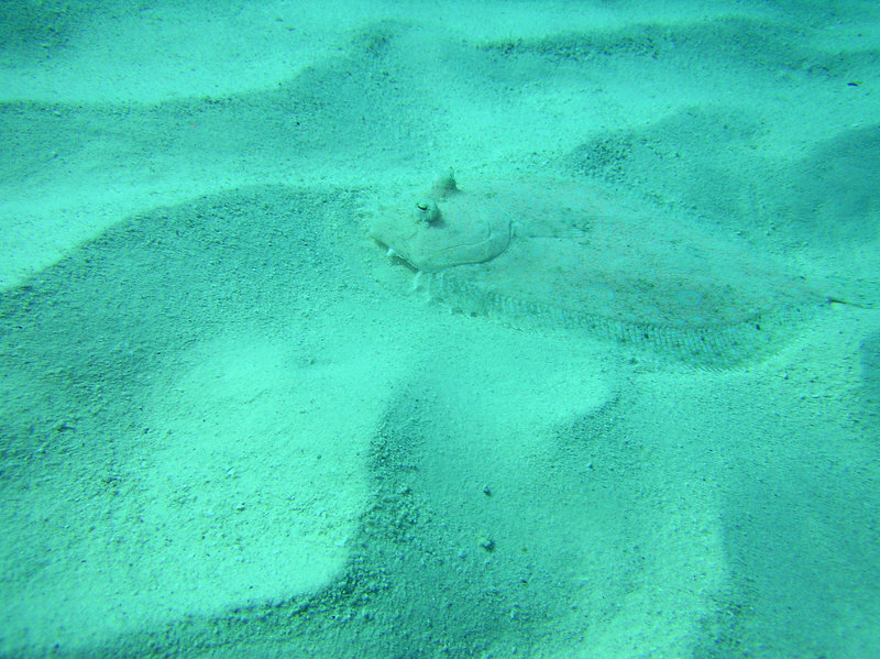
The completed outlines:
<svg viewBox="0 0 880 659">
<path fill-rule="evenodd" d="M 396 196 L 370 233 L 453 309 L 711 369 L 766 354 L 828 300 L 745 241 L 573 182 L 460 188 L 450 173 Z"/>
</svg>

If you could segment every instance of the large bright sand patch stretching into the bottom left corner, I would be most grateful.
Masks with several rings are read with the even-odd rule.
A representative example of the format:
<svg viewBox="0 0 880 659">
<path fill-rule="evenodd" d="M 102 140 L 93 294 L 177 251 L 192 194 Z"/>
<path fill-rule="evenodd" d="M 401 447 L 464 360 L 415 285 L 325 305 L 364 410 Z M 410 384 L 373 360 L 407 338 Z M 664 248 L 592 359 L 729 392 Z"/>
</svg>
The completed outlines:
<svg viewBox="0 0 880 659">
<path fill-rule="evenodd" d="M 34 488 L 36 530 L 41 516 L 63 524 L 34 538 L 45 559 L 18 575 L 28 587 L 4 582 L 6 647 L 100 642 L 329 583 L 369 495 L 366 451 L 395 373 L 376 361 L 391 347 L 354 338 L 316 356 L 301 337 L 230 333 L 168 363 L 145 399 L 148 433 L 106 477 L 124 497 L 108 498 L 91 470 Z"/>
</svg>

